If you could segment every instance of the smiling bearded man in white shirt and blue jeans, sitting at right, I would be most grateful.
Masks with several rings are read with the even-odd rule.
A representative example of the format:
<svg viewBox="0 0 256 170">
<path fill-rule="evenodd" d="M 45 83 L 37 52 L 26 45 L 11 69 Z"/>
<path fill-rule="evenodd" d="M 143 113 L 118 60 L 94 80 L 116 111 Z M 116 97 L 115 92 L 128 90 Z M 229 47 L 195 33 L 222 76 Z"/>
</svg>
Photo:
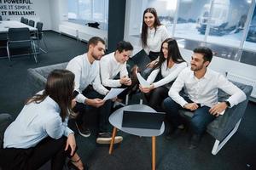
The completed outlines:
<svg viewBox="0 0 256 170">
<path fill-rule="evenodd" d="M 207 68 L 211 60 L 212 50 L 210 48 L 195 48 L 190 68 L 185 68 L 178 75 L 168 93 L 171 98 L 166 98 L 164 101 L 167 118 L 172 122 L 172 128 L 167 134 L 169 137 L 181 124 L 178 110 L 183 108 L 194 111 L 190 122 L 192 137 L 189 149 L 197 147 L 207 125 L 222 111 L 246 99 L 246 94 L 240 88 L 237 88 L 220 73 Z M 179 94 L 183 88 L 187 94 L 186 97 Z M 230 98 L 218 103 L 218 88 L 230 94 Z"/>
</svg>

